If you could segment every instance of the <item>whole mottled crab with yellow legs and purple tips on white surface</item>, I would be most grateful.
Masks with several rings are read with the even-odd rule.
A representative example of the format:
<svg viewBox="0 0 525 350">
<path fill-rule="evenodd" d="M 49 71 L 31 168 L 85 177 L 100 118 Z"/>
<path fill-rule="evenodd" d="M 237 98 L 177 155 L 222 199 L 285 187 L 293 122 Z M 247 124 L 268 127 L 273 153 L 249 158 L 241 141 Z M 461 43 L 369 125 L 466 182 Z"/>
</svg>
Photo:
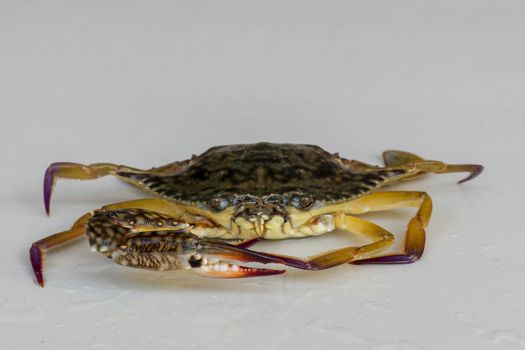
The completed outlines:
<svg viewBox="0 0 525 350">
<path fill-rule="evenodd" d="M 384 166 L 374 166 L 318 146 L 264 142 L 216 146 L 191 159 L 149 170 L 110 163 L 53 163 L 44 177 L 48 215 L 58 178 L 113 175 L 155 196 L 106 205 L 81 216 L 69 230 L 33 243 L 30 261 L 43 287 L 46 251 L 87 234 L 93 251 L 120 265 L 159 271 L 192 269 L 211 277 L 286 271 L 253 263 L 303 270 L 345 263 L 412 263 L 423 254 L 431 198 L 425 192 L 377 190 L 427 173 L 470 173 L 459 181 L 463 183 L 479 175 L 483 166 L 446 164 L 396 150 L 385 151 L 383 160 Z M 359 215 L 404 207 L 417 209 L 407 225 L 404 249 L 388 252 L 395 236 Z M 369 242 L 309 258 L 249 249 L 262 239 L 317 236 L 336 229 L 359 234 Z"/>
</svg>

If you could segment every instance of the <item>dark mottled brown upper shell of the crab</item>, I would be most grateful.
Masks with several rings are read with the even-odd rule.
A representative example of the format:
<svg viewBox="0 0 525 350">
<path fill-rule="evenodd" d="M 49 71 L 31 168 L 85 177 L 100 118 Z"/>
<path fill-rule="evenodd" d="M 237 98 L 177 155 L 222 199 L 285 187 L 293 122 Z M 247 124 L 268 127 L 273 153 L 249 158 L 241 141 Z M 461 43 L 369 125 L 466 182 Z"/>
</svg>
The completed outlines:
<svg viewBox="0 0 525 350">
<path fill-rule="evenodd" d="M 257 143 L 216 146 L 173 173 L 120 172 L 175 202 L 224 210 L 239 202 L 306 209 L 357 198 L 404 170 L 356 171 L 318 146 Z"/>
</svg>

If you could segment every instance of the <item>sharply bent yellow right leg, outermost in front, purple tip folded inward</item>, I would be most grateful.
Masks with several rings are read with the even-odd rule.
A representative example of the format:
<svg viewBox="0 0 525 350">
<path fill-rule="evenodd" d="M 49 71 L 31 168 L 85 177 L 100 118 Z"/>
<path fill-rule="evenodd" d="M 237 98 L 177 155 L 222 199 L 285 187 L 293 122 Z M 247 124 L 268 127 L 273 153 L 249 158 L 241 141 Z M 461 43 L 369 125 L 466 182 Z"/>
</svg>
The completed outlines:
<svg viewBox="0 0 525 350">
<path fill-rule="evenodd" d="M 418 207 L 416 215 L 409 221 L 404 252 L 375 257 L 357 257 L 352 264 L 406 264 L 417 261 L 425 248 L 425 227 L 432 213 L 432 200 L 425 192 L 377 192 L 363 196 L 350 203 L 351 214 L 395 208 Z"/>
</svg>

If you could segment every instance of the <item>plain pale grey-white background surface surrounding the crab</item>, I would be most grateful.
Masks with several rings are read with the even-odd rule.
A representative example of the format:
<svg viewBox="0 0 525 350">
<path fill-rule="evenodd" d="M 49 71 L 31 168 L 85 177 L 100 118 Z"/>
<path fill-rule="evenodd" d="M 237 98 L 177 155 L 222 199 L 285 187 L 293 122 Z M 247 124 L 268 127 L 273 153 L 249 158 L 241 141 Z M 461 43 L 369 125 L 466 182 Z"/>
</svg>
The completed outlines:
<svg viewBox="0 0 525 350">
<path fill-rule="evenodd" d="M 522 1 L 0 1 L 0 349 L 525 348 Z M 268 278 L 127 269 L 31 242 L 143 197 L 55 161 L 149 168 L 210 146 L 404 149 L 486 171 L 434 199 L 423 259 Z M 402 238 L 411 211 L 367 218 Z M 348 235 L 270 242 L 306 256 Z"/>
</svg>

